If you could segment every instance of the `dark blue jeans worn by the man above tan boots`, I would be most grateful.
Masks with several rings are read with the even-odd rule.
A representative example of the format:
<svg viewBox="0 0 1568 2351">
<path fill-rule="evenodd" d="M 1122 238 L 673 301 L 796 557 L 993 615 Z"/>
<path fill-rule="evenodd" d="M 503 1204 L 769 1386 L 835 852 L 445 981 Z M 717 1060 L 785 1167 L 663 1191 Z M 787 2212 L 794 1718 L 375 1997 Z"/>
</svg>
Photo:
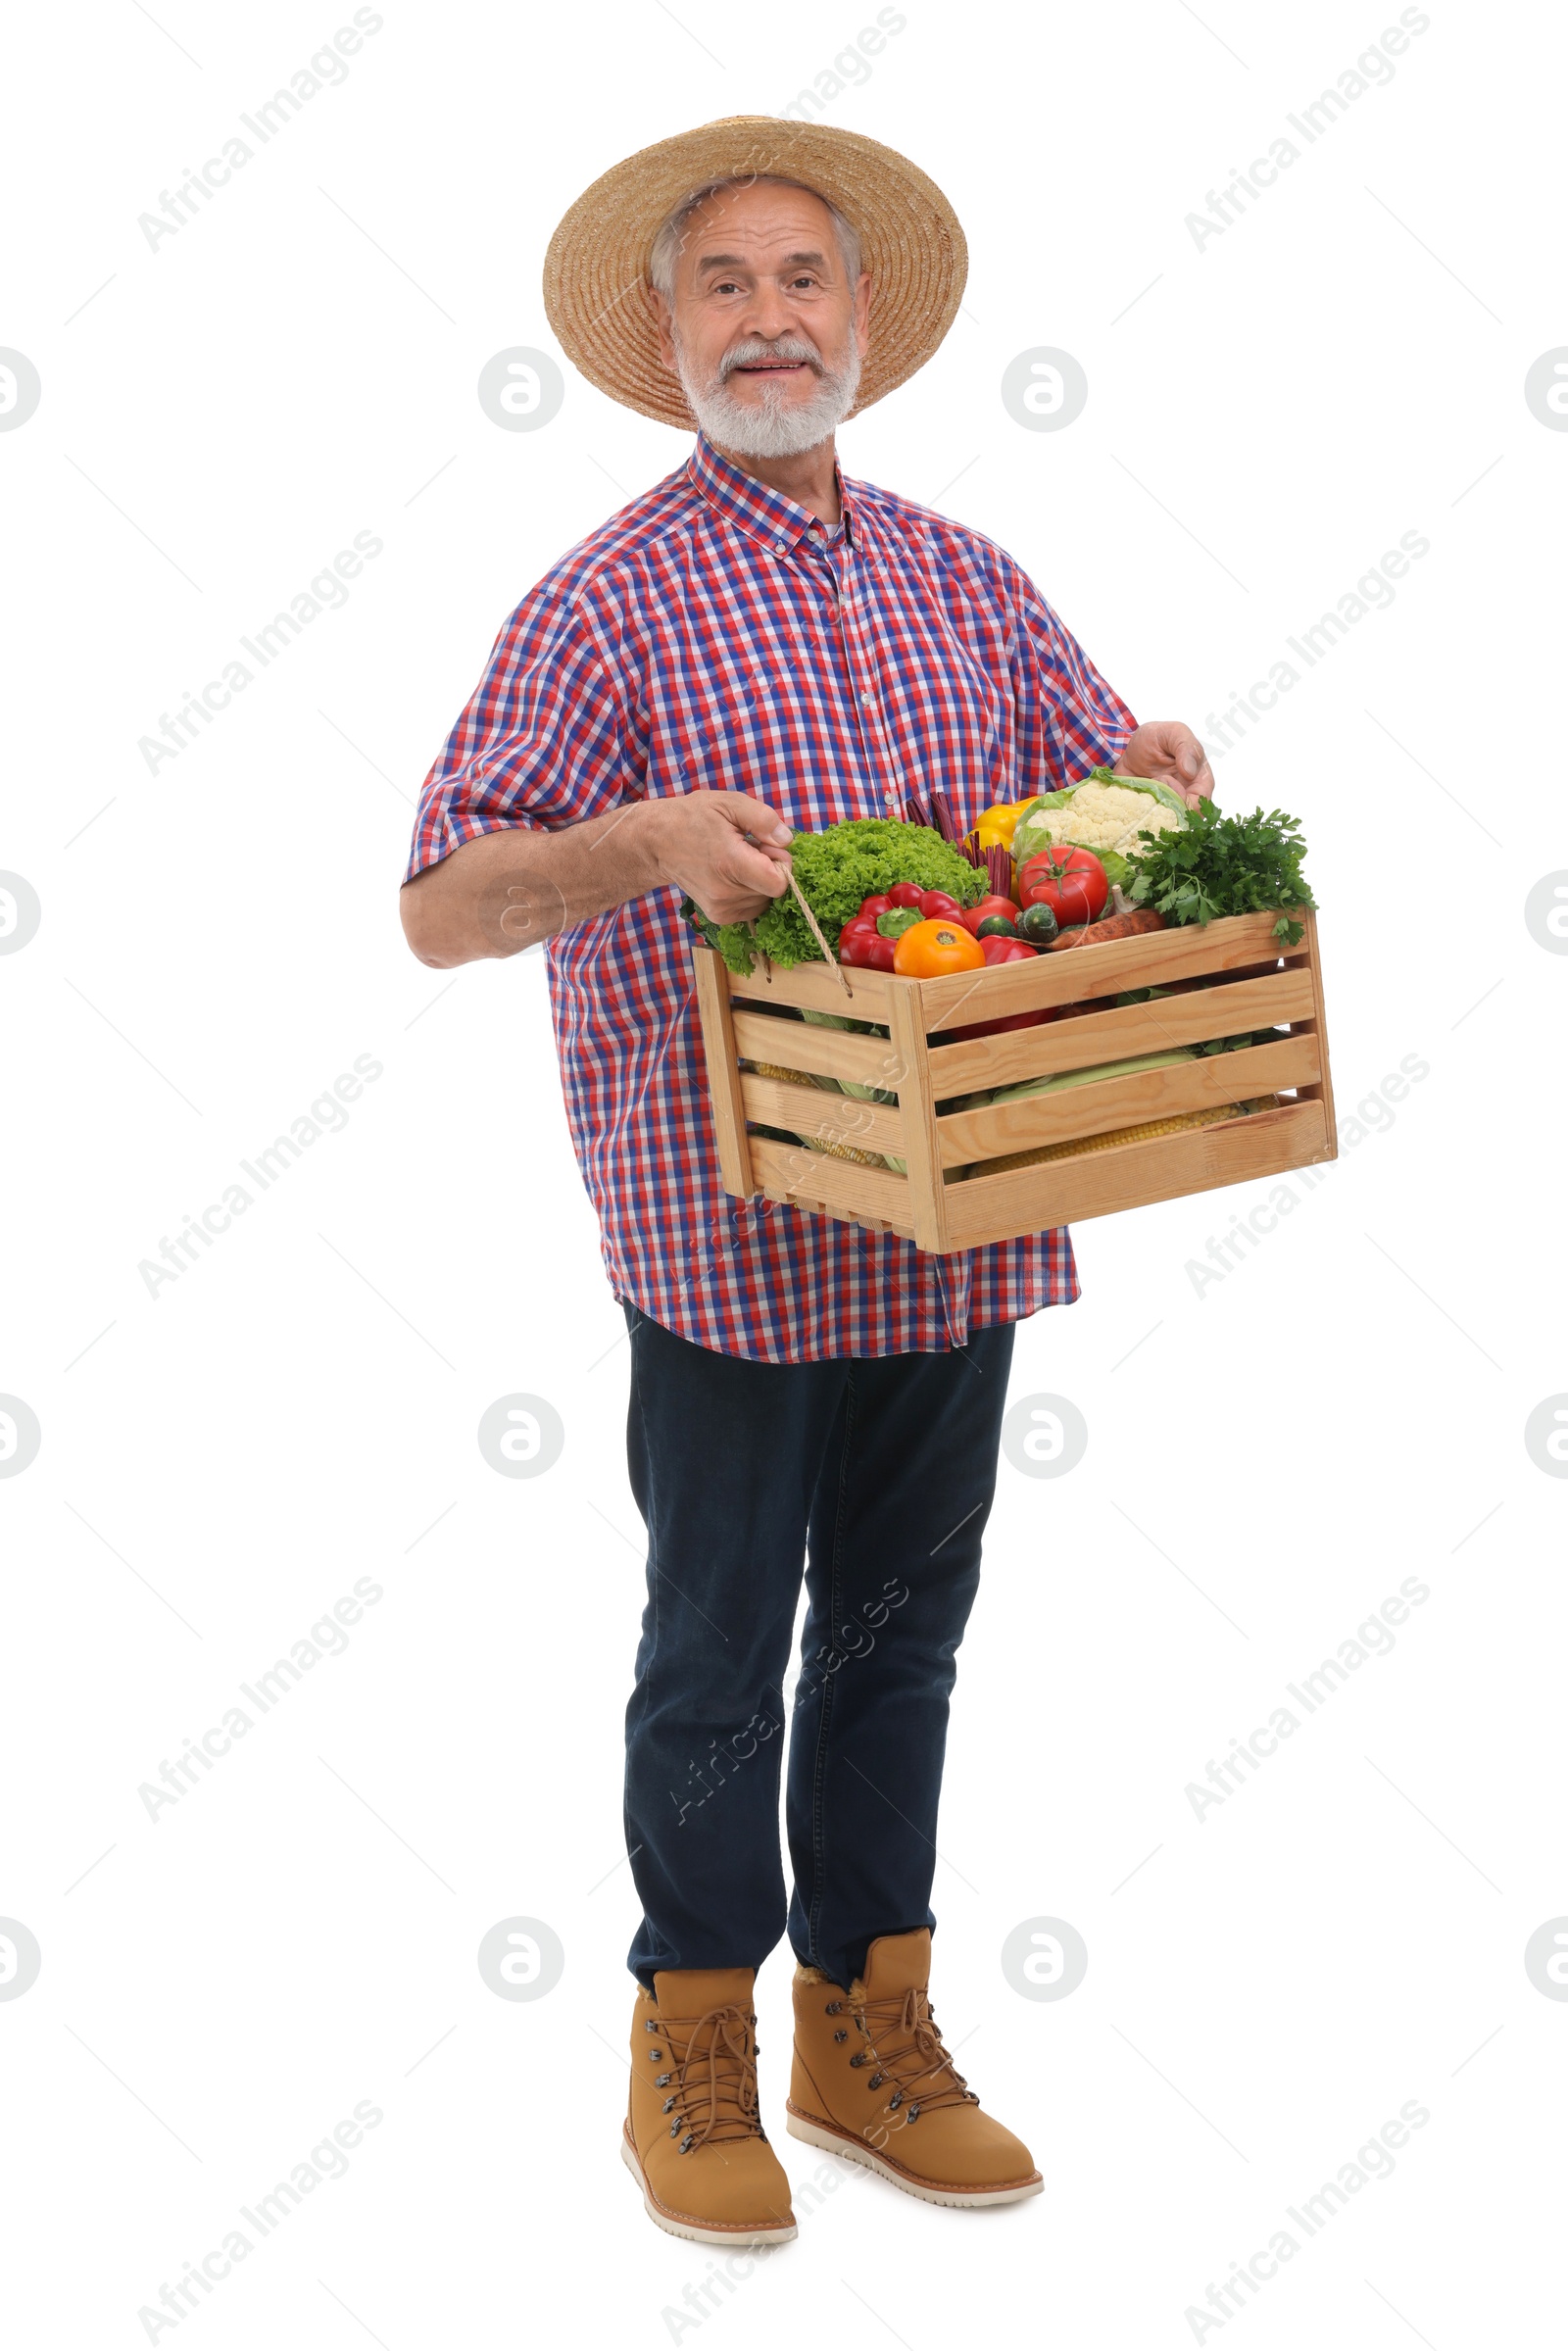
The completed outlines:
<svg viewBox="0 0 1568 2351">
<path fill-rule="evenodd" d="M 1013 1324 L 961 1352 L 752 1364 L 637 1307 L 628 1458 L 649 1601 L 625 1709 L 632 1972 L 795 1956 L 849 1984 L 877 1935 L 936 1925 L 931 1871 L 954 1650 Z M 792 1719 L 783 1681 L 806 1578 Z"/>
</svg>

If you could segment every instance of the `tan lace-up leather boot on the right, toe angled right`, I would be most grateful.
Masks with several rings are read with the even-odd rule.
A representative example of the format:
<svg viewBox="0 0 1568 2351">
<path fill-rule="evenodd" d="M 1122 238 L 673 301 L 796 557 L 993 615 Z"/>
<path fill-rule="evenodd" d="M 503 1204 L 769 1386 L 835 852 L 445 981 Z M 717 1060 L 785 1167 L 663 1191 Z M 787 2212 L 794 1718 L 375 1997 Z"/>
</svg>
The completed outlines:
<svg viewBox="0 0 1568 2351">
<path fill-rule="evenodd" d="M 964 2085 L 931 2015 L 931 1935 L 882 1935 L 844 1991 L 795 1970 L 788 2132 L 865 2163 L 926 2203 L 990 2205 L 1039 2196 L 1023 2139 Z"/>
</svg>

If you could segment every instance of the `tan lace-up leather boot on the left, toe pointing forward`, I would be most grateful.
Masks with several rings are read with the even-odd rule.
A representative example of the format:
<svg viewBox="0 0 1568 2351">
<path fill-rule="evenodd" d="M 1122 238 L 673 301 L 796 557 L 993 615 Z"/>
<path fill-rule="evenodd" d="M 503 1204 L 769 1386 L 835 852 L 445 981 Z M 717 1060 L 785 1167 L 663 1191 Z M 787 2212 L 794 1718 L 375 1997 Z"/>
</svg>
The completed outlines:
<svg viewBox="0 0 1568 2351">
<path fill-rule="evenodd" d="M 752 1968 L 670 1968 L 637 1987 L 621 2139 L 651 2222 L 698 2245 L 783 2245 L 790 2182 L 757 2118 Z"/>
</svg>

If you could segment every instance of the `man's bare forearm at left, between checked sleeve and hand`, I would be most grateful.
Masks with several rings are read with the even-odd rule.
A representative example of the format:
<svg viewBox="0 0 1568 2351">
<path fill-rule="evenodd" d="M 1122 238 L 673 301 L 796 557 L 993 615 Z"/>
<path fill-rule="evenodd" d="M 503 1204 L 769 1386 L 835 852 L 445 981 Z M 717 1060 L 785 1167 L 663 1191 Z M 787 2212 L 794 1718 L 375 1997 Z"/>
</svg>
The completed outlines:
<svg viewBox="0 0 1568 2351">
<path fill-rule="evenodd" d="M 463 842 L 402 886 L 402 931 L 421 964 L 447 971 L 524 947 L 661 889 L 654 809 L 635 802 L 543 832 L 515 825 Z"/>
</svg>

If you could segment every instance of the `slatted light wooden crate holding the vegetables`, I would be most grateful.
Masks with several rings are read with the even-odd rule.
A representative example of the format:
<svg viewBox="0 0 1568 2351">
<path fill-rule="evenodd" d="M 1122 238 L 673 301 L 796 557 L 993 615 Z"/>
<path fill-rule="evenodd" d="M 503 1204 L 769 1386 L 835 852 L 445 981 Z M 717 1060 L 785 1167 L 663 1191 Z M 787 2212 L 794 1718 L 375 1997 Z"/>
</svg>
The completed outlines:
<svg viewBox="0 0 1568 2351">
<path fill-rule="evenodd" d="M 900 1232 L 919 1248 L 950 1253 L 1333 1159 L 1316 922 L 1302 915 L 1302 940 L 1281 950 L 1272 936 L 1274 919 L 1239 915 L 1206 929 L 1194 924 L 1098 947 L 1070 947 L 940 980 L 846 971 L 849 997 L 825 964 L 783 971 L 759 962 L 757 971 L 741 978 L 726 971 L 712 947 L 696 945 L 696 994 L 724 1190 L 743 1199 L 762 1192 L 813 1215 Z M 1131 987 L 1182 980 L 1213 985 L 1154 1004 L 1110 1004 Z M 1081 1009 L 999 1037 L 940 1041 L 940 1032 L 964 1023 L 1065 1004 Z M 788 1013 L 778 1018 L 797 1006 L 879 1023 L 886 1037 L 818 1027 Z M 1199 1056 L 1133 1077 L 1093 1079 L 987 1110 L 938 1114 L 938 1103 L 987 1086 L 1279 1025 L 1288 1025 L 1291 1034 L 1276 1044 Z M 743 1070 L 743 1060 L 853 1079 L 891 1091 L 898 1100 L 860 1103 L 811 1084 L 785 1084 Z M 950 1168 L 983 1166 L 1044 1143 L 1114 1133 L 1175 1112 L 1269 1093 L 1286 1096 L 1279 1110 L 1220 1126 L 990 1176 L 973 1173 L 959 1183 L 947 1178 Z M 907 1176 L 830 1157 L 806 1143 L 750 1133 L 748 1121 L 884 1152 L 903 1159 Z"/>
</svg>

